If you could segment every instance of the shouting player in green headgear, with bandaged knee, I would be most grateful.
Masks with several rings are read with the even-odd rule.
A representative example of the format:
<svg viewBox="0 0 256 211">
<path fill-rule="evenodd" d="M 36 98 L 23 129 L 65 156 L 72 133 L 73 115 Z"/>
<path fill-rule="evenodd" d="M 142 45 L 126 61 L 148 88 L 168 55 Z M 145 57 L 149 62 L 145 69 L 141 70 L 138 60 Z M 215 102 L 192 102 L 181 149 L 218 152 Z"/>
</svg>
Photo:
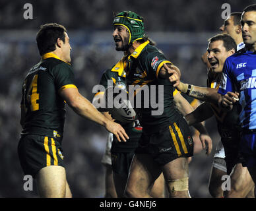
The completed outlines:
<svg viewBox="0 0 256 211">
<path fill-rule="evenodd" d="M 163 173 L 170 197 L 189 197 L 187 158 L 193 155 L 193 139 L 185 119 L 174 105 L 173 92 L 179 82 L 179 69 L 150 45 L 141 16 L 123 11 L 115 15 L 113 26 L 115 49 L 125 52 L 119 62 L 125 69 L 127 85 L 139 85 L 139 90 L 150 89 L 150 86 L 157 90 L 164 88 L 162 114 L 152 115 L 155 109 L 151 105 L 143 107 L 148 102 L 141 101 L 141 107 L 135 107 L 143 134 L 135 150 L 125 196 L 150 197 L 148 189 Z M 160 97 L 157 91 L 154 97 Z M 208 154 L 211 139 L 203 132 L 201 141 L 204 148 L 208 145 Z"/>
</svg>

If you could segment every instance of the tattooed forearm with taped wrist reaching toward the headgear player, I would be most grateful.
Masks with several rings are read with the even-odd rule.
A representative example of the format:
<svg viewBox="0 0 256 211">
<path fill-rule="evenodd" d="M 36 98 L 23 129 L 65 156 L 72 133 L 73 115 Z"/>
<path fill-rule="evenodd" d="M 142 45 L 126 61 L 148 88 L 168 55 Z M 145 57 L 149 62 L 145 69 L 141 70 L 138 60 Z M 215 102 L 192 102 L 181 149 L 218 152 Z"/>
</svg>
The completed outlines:
<svg viewBox="0 0 256 211">
<path fill-rule="evenodd" d="M 222 99 L 221 94 L 218 94 L 218 90 L 214 88 L 194 86 L 191 84 L 184 84 L 183 82 L 179 82 L 177 90 L 193 98 L 197 98 L 198 100 L 203 100 L 205 102 L 214 104 L 218 104 L 218 102 Z"/>
</svg>

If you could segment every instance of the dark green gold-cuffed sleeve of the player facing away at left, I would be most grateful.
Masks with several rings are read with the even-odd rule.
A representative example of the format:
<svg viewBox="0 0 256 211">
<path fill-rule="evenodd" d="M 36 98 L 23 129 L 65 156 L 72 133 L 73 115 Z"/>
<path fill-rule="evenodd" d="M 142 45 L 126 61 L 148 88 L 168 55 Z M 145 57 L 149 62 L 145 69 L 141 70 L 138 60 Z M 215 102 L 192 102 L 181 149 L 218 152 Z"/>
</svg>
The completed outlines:
<svg viewBox="0 0 256 211">
<path fill-rule="evenodd" d="M 53 67 L 53 77 L 58 91 L 66 88 L 77 88 L 74 73 L 67 64 L 59 64 Z"/>
</svg>

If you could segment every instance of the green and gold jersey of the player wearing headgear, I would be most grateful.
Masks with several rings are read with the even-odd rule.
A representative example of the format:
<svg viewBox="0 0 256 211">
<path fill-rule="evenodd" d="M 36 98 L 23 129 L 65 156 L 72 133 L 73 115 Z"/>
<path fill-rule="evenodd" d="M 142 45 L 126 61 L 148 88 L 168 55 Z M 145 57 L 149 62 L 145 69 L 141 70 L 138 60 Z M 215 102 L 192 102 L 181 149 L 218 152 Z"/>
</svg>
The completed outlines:
<svg viewBox="0 0 256 211">
<path fill-rule="evenodd" d="M 135 107 L 143 131 L 154 133 L 159 131 L 161 127 L 177 121 L 180 113 L 177 112 L 174 104 L 174 86 L 168 79 L 158 77 L 164 63 L 171 62 L 156 47 L 149 45 L 148 41 L 139 45 L 125 61 L 127 61 L 127 85 L 139 85 L 141 88 L 138 90 L 143 90 L 144 93 L 147 89 L 147 96 L 143 94 L 139 96 L 139 92 L 135 92 L 135 102 L 141 100 L 140 107 Z M 153 105 L 152 102 L 157 102 L 158 107 L 156 107 L 156 104 Z M 159 104 L 162 106 L 162 113 L 152 115 L 152 111 L 160 111 L 161 106 Z"/>
</svg>

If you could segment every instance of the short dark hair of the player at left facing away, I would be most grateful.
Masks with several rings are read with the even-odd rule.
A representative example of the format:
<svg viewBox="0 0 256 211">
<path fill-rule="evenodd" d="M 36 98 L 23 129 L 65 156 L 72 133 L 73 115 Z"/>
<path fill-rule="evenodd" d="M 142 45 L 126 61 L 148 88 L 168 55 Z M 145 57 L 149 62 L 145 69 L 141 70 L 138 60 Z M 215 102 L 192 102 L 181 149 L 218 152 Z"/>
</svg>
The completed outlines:
<svg viewBox="0 0 256 211">
<path fill-rule="evenodd" d="M 60 24 L 51 23 L 40 26 L 40 30 L 36 34 L 36 42 L 40 55 L 44 55 L 56 49 L 57 39 L 60 38 L 65 43 L 66 28 Z"/>
</svg>

